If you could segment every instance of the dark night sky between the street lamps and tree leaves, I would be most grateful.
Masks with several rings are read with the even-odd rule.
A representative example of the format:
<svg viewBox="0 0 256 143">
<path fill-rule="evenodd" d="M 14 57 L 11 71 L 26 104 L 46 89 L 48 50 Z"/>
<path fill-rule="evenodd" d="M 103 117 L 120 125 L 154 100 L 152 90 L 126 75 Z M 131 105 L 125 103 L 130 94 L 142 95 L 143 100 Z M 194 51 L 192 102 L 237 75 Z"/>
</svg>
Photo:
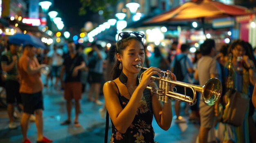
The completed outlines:
<svg viewBox="0 0 256 143">
<path fill-rule="evenodd" d="M 54 6 L 50 10 L 55 10 L 62 18 L 66 30 L 71 33 L 79 33 L 84 27 L 85 22 L 91 21 L 90 15 L 92 12 L 87 11 L 86 15 L 79 15 L 81 3 L 79 0 L 54 0 Z"/>
</svg>

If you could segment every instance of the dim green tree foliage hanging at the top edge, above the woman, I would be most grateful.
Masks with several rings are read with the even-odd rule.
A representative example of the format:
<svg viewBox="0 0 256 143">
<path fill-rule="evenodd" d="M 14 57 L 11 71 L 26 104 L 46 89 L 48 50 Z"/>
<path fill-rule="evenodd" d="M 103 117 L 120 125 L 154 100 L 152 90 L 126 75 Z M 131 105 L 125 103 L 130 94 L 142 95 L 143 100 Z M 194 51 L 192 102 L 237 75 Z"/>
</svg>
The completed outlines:
<svg viewBox="0 0 256 143">
<path fill-rule="evenodd" d="M 103 10 L 103 17 L 108 19 L 112 14 L 112 10 L 108 9 L 108 7 L 115 5 L 117 0 L 80 0 L 80 3 L 79 15 L 85 15 L 87 10 L 92 12 Z"/>
</svg>

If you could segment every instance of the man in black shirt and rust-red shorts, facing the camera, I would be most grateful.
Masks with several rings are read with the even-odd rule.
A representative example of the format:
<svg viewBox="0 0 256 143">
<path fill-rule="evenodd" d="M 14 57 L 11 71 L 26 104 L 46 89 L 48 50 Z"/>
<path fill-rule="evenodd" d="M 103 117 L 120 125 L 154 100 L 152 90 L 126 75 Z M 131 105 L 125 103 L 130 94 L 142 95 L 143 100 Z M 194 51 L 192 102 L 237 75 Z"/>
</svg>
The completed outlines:
<svg viewBox="0 0 256 143">
<path fill-rule="evenodd" d="M 67 47 L 69 55 L 66 55 L 61 68 L 61 84 L 64 88 L 64 98 L 67 101 L 67 120 L 61 123 L 61 125 L 68 125 L 71 123 L 72 99 L 74 99 L 76 112 L 74 126 L 80 127 L 81 125 L 78 122 L 78 114 L 80 112 L 80 99 L 82 96 L 81 70 L 85 68 L 85 60 L 82 55 L 76 52 L 76 45 L 73 41 L 68 42 Z M 66 75 L 65 83 L 63 81 L 64 72 Z"/>
</svg>

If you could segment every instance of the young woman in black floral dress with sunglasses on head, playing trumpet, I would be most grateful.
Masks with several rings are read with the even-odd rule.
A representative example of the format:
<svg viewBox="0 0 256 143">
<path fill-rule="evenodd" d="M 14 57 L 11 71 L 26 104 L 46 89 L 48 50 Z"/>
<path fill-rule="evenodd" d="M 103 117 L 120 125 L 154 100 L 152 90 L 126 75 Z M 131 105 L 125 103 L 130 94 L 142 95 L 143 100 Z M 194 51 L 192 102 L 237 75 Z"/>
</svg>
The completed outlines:
<svg viewBox="0 0 256 143">
<path fill-rule="evenodd" d="M 156 87 L 155 79 L 150 77 L 160 75 L 161 70 L 148 68 L 139 84 L 141 68 L 136 68 L 136 65 L 144 63 L 143 40 L 143 33 L 119 33 L 112 81 L 103 86 L 106 108 L 112 122 L 111 143 L 154 143 L 153 116 L 163 130 L 171 126 L 171 102 L 162 104 L 158 101 L 158 95 L 146 89 L 148 85 Z M 167 72 L 171 73 L 169 70 Z M 173 73 L 170 77 L 176 80 Z M 171 84 L 170 90 L 174 86 Z"/>
</svg>

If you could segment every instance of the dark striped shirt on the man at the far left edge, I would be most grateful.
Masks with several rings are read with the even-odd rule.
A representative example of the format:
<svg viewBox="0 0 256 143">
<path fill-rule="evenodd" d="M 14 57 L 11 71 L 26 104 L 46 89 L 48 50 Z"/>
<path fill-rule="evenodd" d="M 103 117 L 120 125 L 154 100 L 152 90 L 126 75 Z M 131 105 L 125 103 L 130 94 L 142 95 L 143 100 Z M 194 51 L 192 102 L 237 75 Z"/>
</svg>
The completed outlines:
<svg viewBox="0 0 256 143">
<path fill-rule="evenodd" d="M 11 51 L 7 51 L 6 53 L 4 53 L 4 55 L 2 55 L 1 57 L 1 64 L 11 64 L 13 62 L 12 60 L 12 54 Z M 18 70 L 17 70 L 17 63 L 13 66 L 13 68 L 11 68 L 11 70 L 9 70 L 7 72 L 7 76 L 5 80 L 14 80 L 17 81 L 18 78 Z"/>
</svg>

